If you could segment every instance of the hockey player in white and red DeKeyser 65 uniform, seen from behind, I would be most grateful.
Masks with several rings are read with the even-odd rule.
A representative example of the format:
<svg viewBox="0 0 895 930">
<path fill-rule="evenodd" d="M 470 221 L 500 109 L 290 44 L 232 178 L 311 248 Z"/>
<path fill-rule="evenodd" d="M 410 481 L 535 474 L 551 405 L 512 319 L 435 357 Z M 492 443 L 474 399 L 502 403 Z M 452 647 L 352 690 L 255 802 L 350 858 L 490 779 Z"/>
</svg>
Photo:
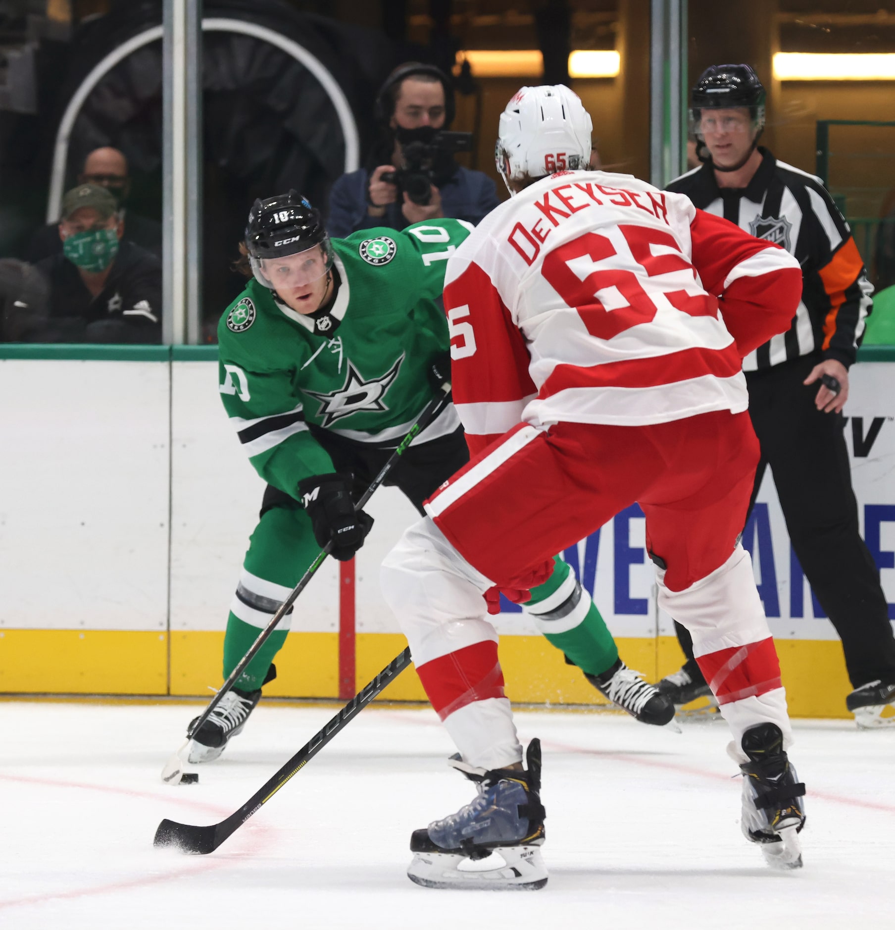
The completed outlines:
<svg viewBox="0 0 895 930">
<path fill-rule="evenodd" d="M 551 554 L 637 501 L 659 604 L 694 652 L 744 773 L 743 828 L 801 864 L 802 796 L 780 666 L 739 540 L 758 444 L 741 364 L 790 324 L 782 248 L 629 175 L 587 165 L 591 121 L 564 86 L 500 119 L 512 198 L 448 262 L 454 402 L 473 458 L 388 554 L 382 587 L 479 795 L 416 830 L 434 887 L 541 887 L 540 748 L 522 748 L 482 595 L 541 583 Z M 520 571 L 520 566 L 524 568 Z M 460 870 L 498 849 L 503 863 Z"/>
</svg>

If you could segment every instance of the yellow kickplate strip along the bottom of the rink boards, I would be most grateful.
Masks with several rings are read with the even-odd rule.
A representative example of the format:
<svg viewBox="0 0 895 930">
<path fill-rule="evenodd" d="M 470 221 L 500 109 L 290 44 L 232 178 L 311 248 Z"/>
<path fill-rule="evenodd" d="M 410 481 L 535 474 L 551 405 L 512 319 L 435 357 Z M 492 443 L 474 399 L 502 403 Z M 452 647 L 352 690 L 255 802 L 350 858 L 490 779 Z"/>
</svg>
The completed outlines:
<svg viewBox="0 0 895 930">
<path fill-rule="evenodd" d="M 0 630 L 0 693 L 196 695 L 222 682 L 223 632 L 206 631 Z M 673 636 L 619 639 L 619 654 L 647 681 L 677 671 L 683 661 Z M 398 633 L 358 633 L 355 690 L 395 658 L 406 645 Z M 170 651 L 169 651 L 170 646 Z M 778 640 L 777 652 L 794 717 L 849 719 L 851 690 L 838 641 Z M 498 646 L 507 697 L 517 703 L 603 705 L 599 692 L 541 636 L 504 636 Z M 168 662 L 170 660 L 170 671 Z M 277 679 L 270 697 L 338 695 L 338 635 L 293 632 L 276 658 Z M 170 680 L 170 688 L 169 688 Z M 390 701 L 424 701 L 413 668 L 383 692 Z M 707 704 L 693 702 L 688 711 Z M 895 716 L 888 706 L 883 718 Z"/>
</svg>

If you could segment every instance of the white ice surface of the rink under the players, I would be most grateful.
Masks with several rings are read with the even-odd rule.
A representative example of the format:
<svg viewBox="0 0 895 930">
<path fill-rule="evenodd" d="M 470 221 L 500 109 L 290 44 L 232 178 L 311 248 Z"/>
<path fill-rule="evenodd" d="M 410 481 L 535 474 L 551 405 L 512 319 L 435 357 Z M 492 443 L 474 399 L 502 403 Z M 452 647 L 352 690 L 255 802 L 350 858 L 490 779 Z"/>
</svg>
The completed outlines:
<svg viewBox="0 0 895 930">
<path fill-rule="evenodd" d="M 604 713 L 520 712 L 541 737 L 543 891 L 443 892 L 405 877 L 411 830 L 471 786 L 431 711 L 371 708 L 207 857 L 155 849 L 163 817 L 213 823 L 332 715 L 261 704 L 199 785 L 159 779 L 194 707 L 0 703 L 5 930 L 861 928 L 895 921 L 895 729 L 796 723 L 805 868 L 739 830 L 724 724 L 681 736 Z"/>
</svg>

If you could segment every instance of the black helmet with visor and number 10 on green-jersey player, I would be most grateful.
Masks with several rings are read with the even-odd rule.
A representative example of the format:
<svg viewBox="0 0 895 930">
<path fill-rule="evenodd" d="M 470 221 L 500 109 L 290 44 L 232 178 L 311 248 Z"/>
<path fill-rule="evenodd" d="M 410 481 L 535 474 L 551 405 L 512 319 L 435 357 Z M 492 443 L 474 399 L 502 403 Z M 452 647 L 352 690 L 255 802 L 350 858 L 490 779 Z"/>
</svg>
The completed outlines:
<svg viewBox="0 0 895 930">
<path fill-rule="evenodd" d="M 255 201 L 245 226 L 245 248 L 259 284 L 274 289 L 263 272 L 264 259 L 283 259 L 317 246 L 321 260 L 308 263 L 301 284 L 316 280 L 333 267 L 333 246 L 320 210 L 295 190 Z"/>
</svg>

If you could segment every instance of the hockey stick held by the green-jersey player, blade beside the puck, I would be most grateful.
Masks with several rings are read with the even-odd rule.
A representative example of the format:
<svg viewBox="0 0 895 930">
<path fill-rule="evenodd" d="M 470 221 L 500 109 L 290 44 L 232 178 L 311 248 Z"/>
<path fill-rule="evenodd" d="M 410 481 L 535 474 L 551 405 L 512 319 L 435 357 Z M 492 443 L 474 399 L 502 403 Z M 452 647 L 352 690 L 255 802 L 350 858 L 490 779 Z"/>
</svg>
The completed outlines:
<svg viewBox="0 0 895 930">
<path fill-rule="evenodd" d="M 450 382 L 444 381 L 441 384 L 441 394 L 433 397 L 428 404 L 423 408 L 423 412 L 419 415 L 419 419 L 416 420 L 415 424 L 410 428 L 410 432 L 401 440 L 401 445 L 395 449 L 395 451 L 388 458 L 388 461 L 382 468 L 379 470 L 379 473 L 375 476 L 370 486 L 363 492 L 361 499 L 355 504 L 354 509 L 356 511 L 361 511 L 366 506 L 367 501 L 373 497 L 373 494 L 378 488 L 379 485 L 385 481 L 388 472 L 390 472 L 395 465 L 398 463 L 398 460 L 407 451 L 407 446 L 410 445 L 419 435 L 420 432 L 426 429 L 429 423 L 435 419 L 441 411 L 450 403 L 451 399 L 451 385 Z M 162 769 L 162 780 L 167 782 L 169 785 L 178 785 L 184 776 L 183 766 L 184 761 L 181 759 L 181 753 L 190 745 L 190 740 L 194 733 L 198 733 L 200 727 L 204 722 L 211 716 L 212 711 L 215 710 L 217 705 L 221 702 L 224 695 L 230 691 L 230 688 L 235 684 L 240 675 L 245 671 L 245 667 L 252 661 L 253 658 L 257 656 L 258 650 L 264 645 L 268 639 L 270 639 L 270 634 L 274 631 L 276 625 L 285 617 L 286 613 L 289 611 L 289 608 L 296 603 L 296 598 L 298 595 L 305 590 L 308 586 L 308 582 L 317 572 L 317 569 L 323 564 L 326 559 L 326 556 L 329 555 L 331 549 L 333 548 L 332 542 L 326 543 L 322 550 L 317 555 L 317 558 L 310 564 L 308 571 L 302 576 L 301 580 L 296 584 L 296 587 L 292 590 L 289 596 L 283 601 L 283 604 L 280 605 L 280 609 L 270 618 L 268 625 L 258 633 L 256 641 L 249 646 L 248 652 L 245 653 L 243 658 L 240 660 L 239 664 L 236 666 L 233 671 L 230 672 L 230 676 L 227 681 L 220 686 L 220 689 L 217 691 L 215 697 L 212 697 L 211 703 L 205 708 L 201 716 L 196 718 L 195 724 L 192 724 L 189 730 L 187 731 L 187 738 L 183 741 L 180 748 L 174 755 L 168 759 L 165 763 L 165 768 Z"/>
</svg>

